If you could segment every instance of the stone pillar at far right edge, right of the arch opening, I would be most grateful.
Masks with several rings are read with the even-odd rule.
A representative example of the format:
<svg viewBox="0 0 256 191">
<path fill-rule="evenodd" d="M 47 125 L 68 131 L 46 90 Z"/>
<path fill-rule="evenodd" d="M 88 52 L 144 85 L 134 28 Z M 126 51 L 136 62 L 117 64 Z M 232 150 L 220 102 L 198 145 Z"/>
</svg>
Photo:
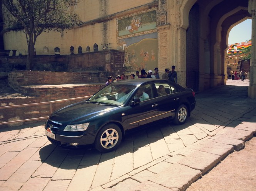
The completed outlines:
<svg viewBox="0 0 256 191">
<path fill-rule="evenodd" d="M 250 62 L 250 84 L 248 87 L 248 97 L 256 99 L 256 2 L 249 0 L 248 12 L 252 18 L 252 31 L 251 31 L 251 62 Z"/>
</svg>

